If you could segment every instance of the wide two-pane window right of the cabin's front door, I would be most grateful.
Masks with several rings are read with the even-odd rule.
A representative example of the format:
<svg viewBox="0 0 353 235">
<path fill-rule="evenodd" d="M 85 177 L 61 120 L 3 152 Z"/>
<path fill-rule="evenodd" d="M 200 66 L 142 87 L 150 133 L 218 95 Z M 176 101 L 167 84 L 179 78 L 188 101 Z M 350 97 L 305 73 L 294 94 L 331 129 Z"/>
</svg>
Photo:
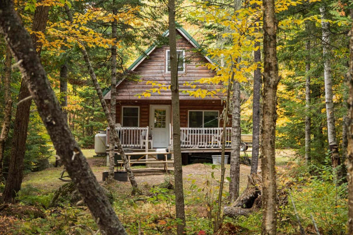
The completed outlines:
<svg viewBox="0 0 353 235">
<path fill-rule="evenodd" d="M 189 127 L 218 127 L 218 111 L 189 111 Z"/>
</svg>

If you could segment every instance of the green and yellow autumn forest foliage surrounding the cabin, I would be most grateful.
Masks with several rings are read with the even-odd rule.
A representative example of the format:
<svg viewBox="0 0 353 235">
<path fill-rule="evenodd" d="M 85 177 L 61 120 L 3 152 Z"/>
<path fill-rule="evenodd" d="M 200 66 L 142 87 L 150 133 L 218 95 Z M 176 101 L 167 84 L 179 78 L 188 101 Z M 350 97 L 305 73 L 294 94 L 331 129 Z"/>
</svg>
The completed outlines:
<svg viewBox="0 0 353 235">
<path fill-rule="evenodd" d="M 237 79 L 240 82 L 241 92 L 246 97 L 246 99 L 241 100 L 241 132 L 247 134 L 252 132 L 253 71 L 257 67 L 262 68 L 261 62 L 253 62 L 253 51 L 255 51 L 255 47 L 258 47 L 254 42 L 262 41 L 262 35 L 258 31 L 247 31 L 249 29 L 246 26 L 247 23 L 238 25 L 239 27 L 237 27 L 237 24 L 232 24 L 229 12 L 233 10 L 233 4 L 234 1 L 227 0 L 179 1 L 177 2 L 179 7 L 177 23 L 181 24 L 201 44 L 202 48 L 206 49 L 202 52 L 208 54 L 217 63 L 229 63 L 227 60 L 224 61 L 227 53 L 228 55 L 240 54 L 242 56 L 244 62 L 242 61 L 241 69 L 239 68 L 241 75 Z M 68 6 L 73 13 L 73 25 L 68 21 L 64 5 Z M 257 12 L 257 7 L 261 5 L 261 1 L 244 1 L 243 5 L 245 6 L 244 13 L 241 14 L 242 10 L 239 10 L 241 22 L 244 22 L 244 19 L 251 15 L 261 14 L 261 12 Z M 47 26 L 41 32 L 32 32 L 32 20 L 35 8 L 38 6 L 49 6 Z M 110 23 L 114 19 L 111 13 L 113 11 L 112 6 L 118 8 L 118 17 L 116 17 L 118 37 L 115 43 L 111 39 Z M 329 23 L 330 50 L 325 56 L 322 52 L 322 19 L 319 9 L 321 6 L 325 7 L 326 19 L 324 21 Z M 30 33 L 35 33 L 43 45 L 41 62 L 58 99 L 64 100 L 67 97 L 67 107 L 63 109 L 68 114 L 68 123 L 74 137 L 83 149 L 92 148 L 94 135 L 98 130 L 106 128 L 107 122 L 77 42 L 86 44 L 86 50 L 90 55 L 92 66 L 102 89 L 107 89 L 110 86 L 110 48 L 113 44 L 117 46 L 118 80 L 122 78 L 138 79 L 136 76 L 127 73 L 126 68 L 152 43 L 156 41 L 160 44 L 168 43 L 166 39 L 161 37 L 162 33 L 168 29 L 166 3 L 163 1 L 139 0 L 83 0 L 72 2 L 67 0 L 43 0 L 38 2 L 32 0 L 15 1 L 15 8 L 26 29 Z M 329 60 L 331 62 L 336 138 L 341 162 L 344 163 L 347 148 L 347 143 L 344 140 L 347 138 L 345 132 L 347 129 L 343 119 L 347 114 L 348 86 L 346 85 L 346 73 L 349 57 L 349 37 L 347 35 L 352 25 L 351 15 L 353 15 L 353 3 L 349 0 L 276 1 L 276 17 L 279 20 L 277 56 L 281 77 L 277 91 L 276 149 L 291 149 L 289 159 L 286 159 L 285 170 L 279 171 L 281 172 L 279 180 L 280 185 L 285 185 L 289 181 L 294 182 L 293 196 L 297 199 L 297 209 L 304 220 L 303 223 L 307 233 L 314 231 L 310 214 L 313 214 L 316 218 L 322 234 L 346 233 L 347 183 L 337 184 L 337 179 L 332 173 L 325 110 L 324 61 Z M 232 37 L 229 37 L 229 35 L 232 35 Z M 242 42 L 244 44 L 234 47 L 234 38 L 243 38 Z M 307 46 L 308 41 L 310 41 L 309 47 Z M 1 71 L 6 70 L 6 47 L 4 38 L 0 38 Z M 307 64 L 309 64 L 309 69 L 306 67 Z M 60 81 L 62 81 L 64 73 L 63 67 L 67 69 L 66 92 L 60 91 Z M 0 97 L 4 97 L 6 92 L 4 76 L 5 73 L 1 73 Z M 309 109 L 305 106 L 305 81 L 308 76 L 311 79 Z M 14 102 L 10 132 L 5 143 L 4 172 L 8 171 L 13 120 L 15 119 L 14 110 L 18 100 L 20 81 L 19 70 L 13 68 L 11 72 L 11 97 Z M 222 81 L 222 76 L 220 76 L 216 82 Z M 158 92 L 158 89 L 152 92 Z M 148 93 L 142 95 L 148 96 Z M 210 94 L 198 91 L 198 93 L 191 95 Z M 0 123 L 4 119 L 5 105 L 5 99 L 0 99 Z M 55 164 L 53 158 L 55 150 L 36 111 L 36 106 L 32 103 L 30 109 L 24 173 L 41 171 L 49 166 L 48 162 Z M 306 116 L 311 117 L 310 164 L 304 164 Z M 209 170 L 213 171 L 214 169 L 212 167 Z M 345 172 L 345 167 L 340 166 L 339 171 Z M 190 181 L 192 182 L 192 180 Z M 195 182 L 189 186 L 194 187 L 194 191 L 191 190 L 192 192 L 204 190 L 201 185 L 197 185 Z M 27 192 L 26 189 L 23 192 L 20 191 L 18 198 L 28 204 L 36 204 L 31 200 L 39 200 L 44 208 L 48 208 L 47 203 L 52 194 L 38 192 L 32 195 L 32 192 L 36 192 L 36 190 L 31 189 L 30 186 L 27 190 Z M 162 191 L 158 191 L 158 193 L 164 195 L 159 200 L 166 203 L 167 208 L 169 208 L 168 200 L 172 196 Z M 192 198 L 193 203 L 200 200 L 197 195 L 191 194 L 192 196 L 189 199 Z M 127 210 L 124 208 L 136 206 L 134 199 L 125 199 L 113 203 L 116 210 Z M 299 233 L 297 231 L 297 219 L 293 216 L 292 205 L 288 203 L 280 209 L 279 232 L 282 234 Z M 77 214 L 81 209 L 70 207 L 68 210 L 72 214 Z M 145 215 L 141 215 L 141 217 L 143 216 Z M 213 231 L 207 218 L 203 220 L 201 217 L 197 217 L 196 222 L 191 222 L 192 215 L 187 216 L 189 216 L 190 224 L 196 224 L 194 227 L 189 224 L 191 226 L 188 227 L 190 234 L 200 233 L 201 231 L 211 233 Z M 74 216 L 72 217 L 74 218 Z M 75 217 L 75 219 L 77 218 Z M 138 220 L 130 219 L 130 222 L 126 222 L 127 229 L 130 229 L 131 233 L 135 233 L 138 226 L 141 225 L 138 225 Z M 82 218 L 79 220 L 80 223 L 83 223 Z M 155 231 L 154 228 L 144 224 L 144 229 L 148 231 L 146 234 L 166 234 L 167 226 L 172 226 L 173 222 L 164 219 L 162 221 L 158 222 L 158 219 L 155 219 L 153 222 L 161 227 L 166 222 L 166 227 L 163 227 L 161 231 L 159 228 Z M 229 222 L 240 226 L 240 230 L 245 227 L 254 234 L 259 233 L 259 221 L 261 221 L 260 213 L 254 213 L 249 217 L 238 217 L 235 220 L 229 219 Z M 37 222 L 31 221 L 29 223 L 33 225 Z M 52 222 L 56 223 L 55 221 Z M 95 226 L 92 219 L 89 218 L 86 218 L 84 223 Z M 53 226 L 55 227 L 55 225 Z M 65 227 L 63 224 L 58 225 L 58 227 L 60 226 Z M 40 226 L 37 230 L 30 231 L 29 229 L 26 232 L 29 233 L 30 231 L 34 234 L 46 232 Z M 249 231 L 246 233 L 249 233 Z M 60 233 L 58 232 L 58 234 Z"/>
</svg>

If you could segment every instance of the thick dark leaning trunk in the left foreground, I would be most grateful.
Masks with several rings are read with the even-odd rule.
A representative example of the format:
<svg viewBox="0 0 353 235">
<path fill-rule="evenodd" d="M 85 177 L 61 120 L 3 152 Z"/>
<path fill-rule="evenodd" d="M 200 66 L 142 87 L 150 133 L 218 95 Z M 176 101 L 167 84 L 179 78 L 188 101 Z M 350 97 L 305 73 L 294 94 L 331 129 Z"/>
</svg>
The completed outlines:
<svg viewBox="0 0 353 235">
<path fill-rule="evenodd" d="M 101 233 L 104 235 L 126 234 L 65 122 L 59 101 L 50 86 L 28 32 L 20 24 L 20 19 L 13 8 L 13 1 L 0 0 L 0 5 L 1 30 L 14 57 L 19 61 L 23 80 L 28 84 L 38 113 L 47 128 L 55 149 L 58 150 L 66 171 L 79 193 L 82 194 L 84 201 L 89 202 L 87 206 Z"/>
</svg>

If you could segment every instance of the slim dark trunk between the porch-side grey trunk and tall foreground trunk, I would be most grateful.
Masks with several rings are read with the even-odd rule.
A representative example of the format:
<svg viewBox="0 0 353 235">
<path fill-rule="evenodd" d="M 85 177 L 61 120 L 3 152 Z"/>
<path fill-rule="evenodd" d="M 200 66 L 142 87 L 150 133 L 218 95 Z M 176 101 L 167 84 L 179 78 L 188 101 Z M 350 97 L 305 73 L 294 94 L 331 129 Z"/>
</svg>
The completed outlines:
<svg viewBox="0 0 353 235">
<path fill-rule="evenodd" d="M 255 43 L 259 47 L 260 42 Z M 260 48 L 254 52 L 254 62 L 261 62 Z M 260 94 L 261 93 L 261 69 L 258 66 L 254 71 L 254 88 L 252 101 L 252 154 L 250 174 L 257 173 L 259 146 L 260 146 Z"/>
</svg>

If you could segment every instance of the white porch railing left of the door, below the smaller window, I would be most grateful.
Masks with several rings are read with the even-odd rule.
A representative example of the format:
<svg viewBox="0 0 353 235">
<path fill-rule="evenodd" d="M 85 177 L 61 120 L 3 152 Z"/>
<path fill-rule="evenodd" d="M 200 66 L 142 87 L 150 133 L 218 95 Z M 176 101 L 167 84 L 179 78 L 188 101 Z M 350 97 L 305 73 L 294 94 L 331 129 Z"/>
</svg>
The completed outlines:
<svg viewBox="0 0 353 235">
<path fill-rule="evenodd" d="M 148 126 L 147 127 L 116 127 L 116 132 L 120 138 L 122 147 L 139 147 L 145 144 L 148 149 Z M 106 146 L 109 147 L 109 132 L 107 127 Z M 145 143 L 144 143 L 145 142 Z"/>
</svg>

